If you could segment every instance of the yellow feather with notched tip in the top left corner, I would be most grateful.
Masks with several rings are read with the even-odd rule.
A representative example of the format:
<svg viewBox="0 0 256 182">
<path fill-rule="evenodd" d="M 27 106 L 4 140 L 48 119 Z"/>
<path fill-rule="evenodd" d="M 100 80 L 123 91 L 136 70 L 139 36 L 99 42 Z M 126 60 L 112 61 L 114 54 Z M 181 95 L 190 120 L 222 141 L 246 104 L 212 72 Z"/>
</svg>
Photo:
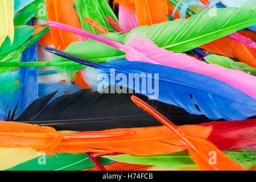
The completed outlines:
<svg viewBox="0 0 256 182">
<path fill-rule="evenodd" d="M 11 43 L 14 39 L 14 0 L 0 0 L 0 45 L 9 36 Z"/>
</svg>

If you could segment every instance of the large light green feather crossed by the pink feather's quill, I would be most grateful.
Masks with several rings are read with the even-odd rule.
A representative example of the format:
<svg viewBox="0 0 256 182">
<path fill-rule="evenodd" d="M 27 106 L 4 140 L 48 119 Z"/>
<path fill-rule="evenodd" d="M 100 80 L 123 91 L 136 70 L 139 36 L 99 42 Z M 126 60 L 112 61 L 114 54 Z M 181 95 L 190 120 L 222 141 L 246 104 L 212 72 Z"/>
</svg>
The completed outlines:
<svg viewBox="0 0 256 182">
<path fill-rule="evenodd" d="M 184 52 L 254 24 L 255 20 L 252 15 L 254 11 L 249 14 L 244 13 L 247 11 L 250 12 L 251 6 L 254 6 L 254 3 L 255 2 L 247 2 L 240 9 L 217 9 L 217 16 L 213 16 L 211 19 L 209 19 L 208 10 L 204 10 L 200 14 L 194 15 L 189 19 L 177 19 L 171 22 L 154 24 L 152 26 L 137 27 L 131 30 L 129 34 L 115 35 L 114 38 L 113 35 L 103 36 L 109 36 L 108 38 L 125 44 L 133 34 L 145 33 L 145 36 L 154 40 L 155 44 L 159 47 L 165 48 L 168 51 Z M 231 18 L 226 16 L 226 14 L 230 14 Z M 237 19 L 232 20 L 233 17 L 241 17 L 243 15 L 244 17 L 238 20 L 239 23 L 237 22 Z M 205 25 L 202 25 L 201 29 L 193 28 L 199 22 L 203 22 Z M 230 24 L 226 22 L 229 22 Z M 205 29 L 205 27 L 207 27 L 207 29 Z M 168 39 L 166 39 L 167 37 Z M 100 49 L 98 49 L 98 47 L 100 47 Z M 96 43 L 92 40 L 90 42 L 73 43 L 65 49 L 65 53 L 100 63 L 109 60 L 113 56 L 117 56 L 116 58 L 125 58 L 125 53 L 117 51 L 115 48 L 110 48 L 107 45 Z M 61 59 L 60 57 L 53 57 L 52 61 L 64 60 L 67 61 L 67 59 Z"/>
</svg>

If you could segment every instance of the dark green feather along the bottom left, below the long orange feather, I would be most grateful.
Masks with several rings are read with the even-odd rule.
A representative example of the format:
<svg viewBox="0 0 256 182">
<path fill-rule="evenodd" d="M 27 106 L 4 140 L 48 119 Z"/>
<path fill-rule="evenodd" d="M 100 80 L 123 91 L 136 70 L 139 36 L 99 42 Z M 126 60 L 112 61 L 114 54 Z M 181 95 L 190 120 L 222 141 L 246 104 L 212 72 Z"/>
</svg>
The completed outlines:
<svg viewBox="0 0 256 182">
<path fill-rule="evenodd" d="M 100 158 L 102 164 L 112 163 L 112 160 Z M 6 171 L 80 171 L 94 167 L 86 154 L 56 154 L 43 155 L 28 160 Z"/>
</svg>

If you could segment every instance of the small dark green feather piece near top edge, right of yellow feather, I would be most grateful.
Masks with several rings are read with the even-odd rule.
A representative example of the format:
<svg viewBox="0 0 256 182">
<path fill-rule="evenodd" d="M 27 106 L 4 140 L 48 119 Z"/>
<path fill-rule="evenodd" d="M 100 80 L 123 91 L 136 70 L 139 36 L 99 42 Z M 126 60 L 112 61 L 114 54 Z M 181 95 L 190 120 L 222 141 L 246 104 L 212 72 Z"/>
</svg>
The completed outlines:
<svg viewBox="0 0 256 182">
<path fill-rule="evenodd" d="M 33 18 L 36 14 L 35 10 L 21 10 L 14 16 L 14 26 L 20 26 L 27 24 L 27 22 Z"/>
</svg>

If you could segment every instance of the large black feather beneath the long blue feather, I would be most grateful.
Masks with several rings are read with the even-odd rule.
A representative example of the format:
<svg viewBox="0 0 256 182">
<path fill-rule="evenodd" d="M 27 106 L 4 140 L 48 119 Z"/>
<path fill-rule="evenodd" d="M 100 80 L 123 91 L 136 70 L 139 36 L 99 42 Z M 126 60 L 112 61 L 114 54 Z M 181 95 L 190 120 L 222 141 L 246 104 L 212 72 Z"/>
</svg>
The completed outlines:
<svg viewBox="0 0 256 182">
<path fill-rule="evenodd" d="M 15 121 L 73 131 L 162 125 L 138 108 L 130 99 L 132 95 L 146 101 L 177 125 L 212 121 L 204 115 L 192 115 L 180 107 L 148 100 L 146 96 L 137 93 L 100 94 L 82 89 L 49 102 L 55 93 L 34 101 Z"/>
</svg>

